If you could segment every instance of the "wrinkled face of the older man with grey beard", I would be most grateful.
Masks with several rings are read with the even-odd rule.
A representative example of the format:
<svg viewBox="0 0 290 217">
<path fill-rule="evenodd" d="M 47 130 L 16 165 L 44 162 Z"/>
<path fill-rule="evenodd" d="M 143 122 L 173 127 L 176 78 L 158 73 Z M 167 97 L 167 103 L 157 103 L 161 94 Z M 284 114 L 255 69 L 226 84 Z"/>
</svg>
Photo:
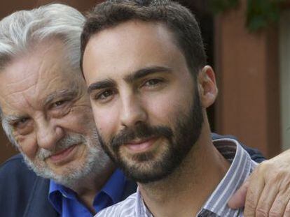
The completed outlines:
<svg viewBox="0 0 290 217">
<path fill-rule="evenodd" d="M 60 40 L 33 47 L 0 71 L 0 105 L 18 148 L 41 176 L 71 184 L 106 167 L 85 84 Z"/>
</svg>

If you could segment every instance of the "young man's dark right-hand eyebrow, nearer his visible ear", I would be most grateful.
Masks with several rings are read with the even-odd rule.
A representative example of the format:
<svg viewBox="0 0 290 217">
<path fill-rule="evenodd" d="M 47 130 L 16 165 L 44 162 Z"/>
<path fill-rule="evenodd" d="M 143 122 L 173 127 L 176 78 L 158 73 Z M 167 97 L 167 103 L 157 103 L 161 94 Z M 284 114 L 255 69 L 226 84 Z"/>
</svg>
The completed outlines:
<svg viewBox="0 0 290 217">
<path fill-rule="evenodd" d="M 125 77 L 125 82 L 132 83 L 135 80 L 139 80 L 141 77 L 146 77 L 147 75 L 151 75 L 154 73 L 172 73 L 172 69 L 165 66 L 150 66 L 146 68 L 141 68 L 131 75 L 127 75 Z"/>
</svg>

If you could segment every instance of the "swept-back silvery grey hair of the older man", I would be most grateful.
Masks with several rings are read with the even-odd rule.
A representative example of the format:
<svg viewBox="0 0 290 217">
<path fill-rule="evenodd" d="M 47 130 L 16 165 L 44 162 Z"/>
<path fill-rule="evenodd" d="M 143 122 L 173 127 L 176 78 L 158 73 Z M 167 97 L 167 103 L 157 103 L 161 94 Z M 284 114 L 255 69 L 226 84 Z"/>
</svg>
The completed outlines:
<svg viewBox="0 0 290 217">
<path fill-rule="evenodd" d="M 29 52 L 36 43 L 50 38 L 62 40 L 72 68 L 80 70 L 80 37 L 84 22 L 85 17 L 78 10 L 60 3 L 20 10 L 4 17 L 0 21 L 0 70 Z M 1 107 L 0 117 L 6 135 L 16 144 Z"/>
</svg>

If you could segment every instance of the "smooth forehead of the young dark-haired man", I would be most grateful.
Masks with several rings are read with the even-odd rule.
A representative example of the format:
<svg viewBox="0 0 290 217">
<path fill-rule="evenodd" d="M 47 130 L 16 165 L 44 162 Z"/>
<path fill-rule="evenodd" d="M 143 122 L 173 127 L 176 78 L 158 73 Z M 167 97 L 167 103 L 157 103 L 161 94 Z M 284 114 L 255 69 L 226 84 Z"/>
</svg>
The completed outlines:
<svg viewBox="0 0 290 217">
<path fill-rule="evenodd" d="M 173 33 L 160 22 L 132 20 L 104 29 L 90 38 L 83 55 L 87 82 L 118 77 L 151 66 L 186 65 Z"/>
</svg>

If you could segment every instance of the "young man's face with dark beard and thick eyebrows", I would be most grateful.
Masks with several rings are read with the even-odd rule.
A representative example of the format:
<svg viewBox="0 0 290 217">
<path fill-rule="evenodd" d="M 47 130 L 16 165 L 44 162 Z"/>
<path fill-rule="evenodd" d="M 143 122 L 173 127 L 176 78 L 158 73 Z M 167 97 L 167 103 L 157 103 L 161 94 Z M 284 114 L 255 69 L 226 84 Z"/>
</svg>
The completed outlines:
<svg viewBox="0 0 290 217">
<path fill-rule="evenodd" d="M 102 145 L 135 181 L 170 174 L 200 135 L 197 87 L 173 41 L 163 24 L 130 21 L 95 34 L 85 48 Z"/>
</svg>

